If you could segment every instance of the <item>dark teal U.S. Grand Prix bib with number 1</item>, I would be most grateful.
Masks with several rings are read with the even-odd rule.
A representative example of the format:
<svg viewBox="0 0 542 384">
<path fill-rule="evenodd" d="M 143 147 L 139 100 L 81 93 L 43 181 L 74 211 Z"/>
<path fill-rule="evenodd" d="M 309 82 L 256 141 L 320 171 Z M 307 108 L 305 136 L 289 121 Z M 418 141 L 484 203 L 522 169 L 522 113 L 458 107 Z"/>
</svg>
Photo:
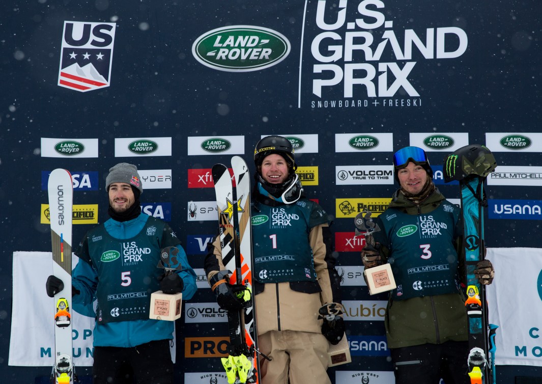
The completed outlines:
<svg viewBox="0 0 542 384">
<path fill-rule="evenodd" d="M 260 283 L 316 281 L 308 234 L 328 220 L 321 207 L 306 199 L 271 207 L 257 203 L 252 216 L 254 278 Z"/>
</svg>

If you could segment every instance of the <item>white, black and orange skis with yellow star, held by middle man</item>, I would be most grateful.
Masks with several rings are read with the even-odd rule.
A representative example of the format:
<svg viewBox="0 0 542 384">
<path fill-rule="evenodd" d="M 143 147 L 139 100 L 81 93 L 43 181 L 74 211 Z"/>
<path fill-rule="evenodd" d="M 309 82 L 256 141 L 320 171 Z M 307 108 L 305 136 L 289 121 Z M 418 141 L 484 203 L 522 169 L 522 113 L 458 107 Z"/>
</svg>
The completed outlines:
<svg viewBox="0 0 542 384">
<path fill-rule="evenodd" d="M 236 188 L 224 164 L 212 167 L 218 208 L 218 227 L 225 271 L 230 284 L 242 284 L 253 291 L 253 258 L 250 222 L 250 174 L 240 156 L 231 158 Z M 235 195 L 234 195 L 235 192 Z M 222 358 L 229 384 L 261 383 L 257 349 L 256 305 L 254 297 L 249 308 L 228 312 L 230 337 L 229 356 Z"/>
</svg>

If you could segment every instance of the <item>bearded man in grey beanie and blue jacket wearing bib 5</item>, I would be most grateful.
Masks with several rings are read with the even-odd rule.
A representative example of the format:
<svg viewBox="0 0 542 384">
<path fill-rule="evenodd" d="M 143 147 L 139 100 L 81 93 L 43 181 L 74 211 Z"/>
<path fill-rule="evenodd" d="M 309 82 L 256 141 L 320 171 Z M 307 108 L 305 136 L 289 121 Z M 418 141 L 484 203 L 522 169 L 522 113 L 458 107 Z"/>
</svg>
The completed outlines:
<svg viewBox="0 0 542 384">
<path fill-rule="evenodd" d="M 188 300 L 197 289 L 196 274 L 170 226 L 141 213 L 143 185 L 135 165 L 110 168 L 106 191 L 111 219 L 87 232 L 75 249 L 81 261 L 72 272 L 74 307 L 98 299 L 93 382 L 173 383 L 169 345 L 174 323 L 149 319 L 150 295 L 183 292 Z M 182 271 L 166 276 L 157 268 L 160 251 L 173 246 Z M 51 275 L 46 289 L 53 297 L 63 283 Z"/>
</svg>

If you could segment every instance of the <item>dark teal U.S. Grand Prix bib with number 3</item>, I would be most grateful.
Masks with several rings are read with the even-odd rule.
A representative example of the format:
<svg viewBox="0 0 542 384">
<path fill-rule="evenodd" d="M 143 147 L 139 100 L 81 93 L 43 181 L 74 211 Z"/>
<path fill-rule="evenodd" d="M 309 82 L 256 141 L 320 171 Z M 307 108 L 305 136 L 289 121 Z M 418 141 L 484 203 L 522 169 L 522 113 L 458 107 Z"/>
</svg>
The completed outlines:
<svg viewBox="0 0 542 384">
<path fill-rule="evenodd" d="M 389 239 L 390 263 L 397 289 L 394 300 L 457 292 L 454 247 L 459 209 L 444 201 L 427 214 L 388 209 L 380 216 Z"/>
</svg>

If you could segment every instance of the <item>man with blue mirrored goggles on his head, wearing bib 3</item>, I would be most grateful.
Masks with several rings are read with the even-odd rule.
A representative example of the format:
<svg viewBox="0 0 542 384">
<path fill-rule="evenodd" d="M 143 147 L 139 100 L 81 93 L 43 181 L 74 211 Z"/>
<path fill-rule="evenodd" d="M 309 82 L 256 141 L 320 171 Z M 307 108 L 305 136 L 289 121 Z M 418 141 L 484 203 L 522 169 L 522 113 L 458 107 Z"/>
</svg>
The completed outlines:
<svg viewBox="0 0 542 384">
<path fill-rule="evenodd" d="M 408 146 L 393 155 L 400 188 L 375 220 L 376 244 L 362 251 L 365 268 L 390 263 L 397 289 L 390 292 L 385 327 L 396 384 L 469 382 L 467 317 L 460 210 L 433 184 L 426 153 Z M 491 284 L 489 260 L 475 271 Z"/>
</svg>

